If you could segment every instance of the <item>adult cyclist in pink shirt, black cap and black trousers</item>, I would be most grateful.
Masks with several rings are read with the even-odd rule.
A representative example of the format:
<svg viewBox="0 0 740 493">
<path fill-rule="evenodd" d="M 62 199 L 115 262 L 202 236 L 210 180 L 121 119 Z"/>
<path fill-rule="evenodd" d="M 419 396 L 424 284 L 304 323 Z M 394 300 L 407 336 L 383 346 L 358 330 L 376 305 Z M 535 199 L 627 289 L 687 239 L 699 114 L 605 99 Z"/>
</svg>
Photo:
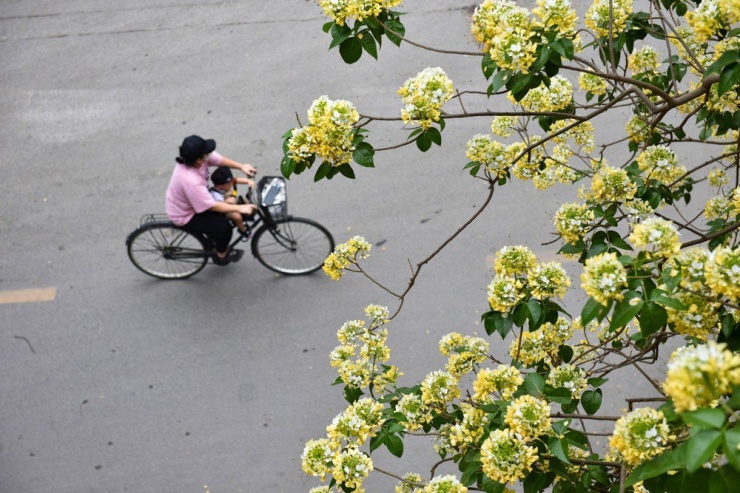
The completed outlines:
<svg viewBox="0 0 740 493">
<path fill-rule="evenodd" d="M 216 141 L 197 135 L 186 137 L 180 146 L 180 155 L 167 187 L 167 216 L 185 230 L 202 233 L 213 239 L 216 253 L 213 263 L 227 265 L 238 262 L 243 250 L 229 249 L 233 234 L 227 213 L 252 214 L 254 204 L 228 204 L 217 202 L 208 191 L 208 168 L 228 166 L 253 177 L 257 169 L 251 164 L 241 164 L 215 152 Z"/>
</svg>

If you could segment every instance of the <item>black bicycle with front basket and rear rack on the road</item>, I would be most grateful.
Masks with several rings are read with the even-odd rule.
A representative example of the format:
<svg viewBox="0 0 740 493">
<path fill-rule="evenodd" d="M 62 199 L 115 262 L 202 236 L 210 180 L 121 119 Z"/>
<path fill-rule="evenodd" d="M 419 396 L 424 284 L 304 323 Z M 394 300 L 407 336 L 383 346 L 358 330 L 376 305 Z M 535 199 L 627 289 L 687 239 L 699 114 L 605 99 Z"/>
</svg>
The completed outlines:
<svg viewBox="0 0 740 493">
<path fill-rule="evenodd" d="M 247 235 L 237 234 L 229 245 L 250 241 L 252 255 L 268 269 L 286 275 L 319 270 L 334 250 L 334 238 L 321 224 L 288 214 L 285 180 L 266 176 L 251 188 L 248 200 L 257 204 L 253 220 L 245 220 Z M 251 232 L 254 231 L 254 234 Z M 166 214 L 142 216 L 139 226 L 126 238 L 131 262 L 140 271 L 159 279 L 185 279 L 203 270 L 215 253 L 206 235 L 176 226 Z"/>
</svg>

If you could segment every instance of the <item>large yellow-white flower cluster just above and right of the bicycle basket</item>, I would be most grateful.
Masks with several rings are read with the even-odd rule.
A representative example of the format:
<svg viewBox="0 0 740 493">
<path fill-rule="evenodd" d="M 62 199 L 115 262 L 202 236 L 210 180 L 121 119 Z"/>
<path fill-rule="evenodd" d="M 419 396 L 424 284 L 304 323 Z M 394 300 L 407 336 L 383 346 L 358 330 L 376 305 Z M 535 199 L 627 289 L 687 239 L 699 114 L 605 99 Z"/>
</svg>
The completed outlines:
<svg viewBox="0 0 740 493">
<path fill-rule="evenodd" d="M 353 125 L 359 119 L 349 101 L 321 96 L 308 110 L 309 124 L 293 129 L 288 140 L 290 157 L 300 163 L 316 155 L 333 166 L 350 162 L 354 151 Z"/>
</svg>

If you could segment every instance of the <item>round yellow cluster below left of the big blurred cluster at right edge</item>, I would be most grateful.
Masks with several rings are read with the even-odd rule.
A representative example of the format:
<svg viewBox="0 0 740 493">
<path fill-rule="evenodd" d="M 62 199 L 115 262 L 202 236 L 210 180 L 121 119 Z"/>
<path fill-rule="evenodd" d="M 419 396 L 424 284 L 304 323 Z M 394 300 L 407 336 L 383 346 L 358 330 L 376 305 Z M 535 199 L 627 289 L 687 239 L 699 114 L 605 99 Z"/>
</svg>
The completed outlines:
<svg viewBox="0 0 740 493">
<path fill-rule="evenodd" d="M 609 446 L 630 466 L 636 466 L 667 449 L 670 435 L 663 413 L 641 407 L 617 420 Z"/>
</svg>

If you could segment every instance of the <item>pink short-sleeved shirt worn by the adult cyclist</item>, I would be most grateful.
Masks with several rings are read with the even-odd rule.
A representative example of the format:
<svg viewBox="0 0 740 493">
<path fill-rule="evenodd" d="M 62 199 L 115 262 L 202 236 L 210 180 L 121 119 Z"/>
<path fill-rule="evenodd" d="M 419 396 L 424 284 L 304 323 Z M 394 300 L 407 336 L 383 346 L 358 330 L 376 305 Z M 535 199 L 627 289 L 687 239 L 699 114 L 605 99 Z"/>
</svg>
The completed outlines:
<svg viewBox="0 0 740 493">
<path fill-rule="evenodd" d="M 198 168 L 176 164 L 167 186 L 166 210 L 170 220 L 182 226 L 195 214 L 207 211 L 216 203 L 208 191 L 208 168 L 219 166 L 222 157 L 212 152 L 208 161 Z"/>
</svg>

